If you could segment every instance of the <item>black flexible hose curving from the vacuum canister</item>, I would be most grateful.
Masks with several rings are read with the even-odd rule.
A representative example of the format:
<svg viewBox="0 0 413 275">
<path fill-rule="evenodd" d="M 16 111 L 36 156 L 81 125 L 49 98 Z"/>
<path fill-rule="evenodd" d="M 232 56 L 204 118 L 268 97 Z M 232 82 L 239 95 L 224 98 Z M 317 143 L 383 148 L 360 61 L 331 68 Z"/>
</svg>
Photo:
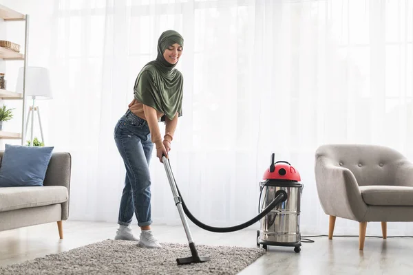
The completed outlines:
<svg viewBox="0 0 413 275">
<path fill-rule="evenodd" d="M 169 159 L 168 159 L 168 162 L 169 162 Z M 242 230 L 242 229 L 244 229 L 244 228 L 246 228 L 250 225 L 253 225 L 257 221 L 260 221 L 260 219 L 262 219 L 266 214 L 271 212 L 271 210 L 273 210 L 273 208 L 275 208 L 275 206 L 278 206 L 279 203 L 282 203 L 282 202 L 286 201 L 286 199 L 288 198 L 286 191 L 277 190 L 277 192 L 275 192 L 275 199 L 273 201 L 271 201 L 271 203 L 262 212 L 260 212 L 260 214 L 253 217 L 253 219 L 250 219 L 249 221 L 246 221 L 245 223 L 241 223 L 239 225 L 230 226 L 228 228 L 216 228 L 216 227 L 207 225 L 205 223 L 202 223 L 201 221 L 198 221 L 198 219 L 193 217 L 193 214 L 191 214 L 191 212 L 187 208 L 187 205 L 184 202 L 184 199 L 182 198 L 182 195 L 181 195 L 181 193 L 179 191 L 179 188 L 178 188 L 178 184 L 176 184 L 175 177 L 173 176 L 172 169 L 171 169 L 171 174 L 172 174 L 172 177 L 173 177 L 173 181 L 175 181 L 176 189 L 178 190 L 178 194 L 180 196 L 180 201 L 182 201 L 182 208 L 184 209 L 185 214 L 187 214 L 187 217 L 193 223 L 195 223 L 195 225 L 198 225 L 200 228 L 202 228 L 204 230 L 207 230 L 207 231 L 211 231 L 211 232 L 226 233 L 226 232 L 234 232 L 234 231 L 237 231 L 237 230 Z"/>
</svg>

